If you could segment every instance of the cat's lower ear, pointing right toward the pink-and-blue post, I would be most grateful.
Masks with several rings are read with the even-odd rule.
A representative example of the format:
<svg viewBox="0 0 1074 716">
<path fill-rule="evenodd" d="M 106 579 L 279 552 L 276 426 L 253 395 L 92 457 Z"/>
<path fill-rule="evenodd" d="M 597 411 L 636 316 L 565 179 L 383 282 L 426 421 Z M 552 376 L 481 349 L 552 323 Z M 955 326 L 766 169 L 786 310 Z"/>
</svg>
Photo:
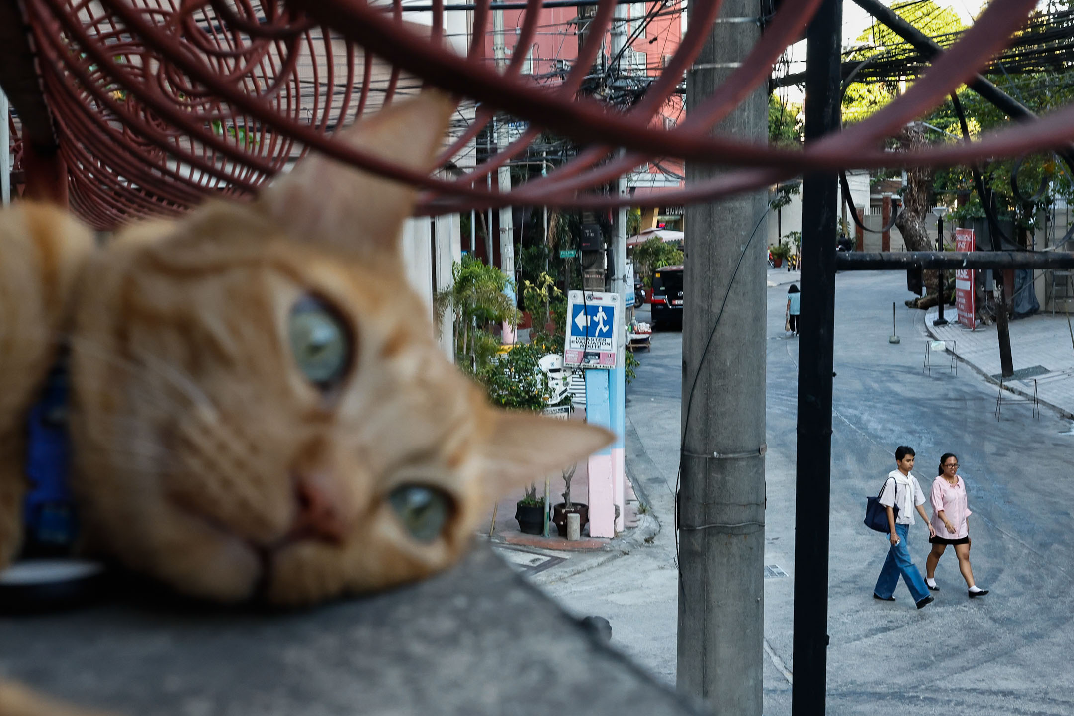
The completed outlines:
<svg viewBox="0 0 1074 716">
<path fill-rule="evenodd" d="M 493 420 L 484 445 L 492 496 L 567 468 L 615 439 L 603 427 L 575 420 L 508 410 L 494 410 Z"/>
</svg>

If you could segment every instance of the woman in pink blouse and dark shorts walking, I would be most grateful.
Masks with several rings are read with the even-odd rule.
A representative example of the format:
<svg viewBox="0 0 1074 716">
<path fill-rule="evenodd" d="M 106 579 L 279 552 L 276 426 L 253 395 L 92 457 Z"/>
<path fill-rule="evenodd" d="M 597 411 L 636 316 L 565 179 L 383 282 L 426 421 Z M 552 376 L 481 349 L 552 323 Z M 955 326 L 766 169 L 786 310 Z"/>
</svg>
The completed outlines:
<svg viewBox="0 0 1074 716">
<path fill-rule="evenodd" d="M 932 481 L 932 526 L 935 537 L 929 539 L 932 552 L 925 560 L 925 584 L 937 591 L 935 573 L 940 557 L 948 544 L 955 546 L 958 569 L 962 572 L 971 597 L 984 597 L 988 589 L 982 589 L 973 581 L 970 567 L 970 525 L 967 517 L 972 514 L 966 500 L 966 483 L 958 474 L 958 457 L 944 453 L 940 458 L 940 474 Z"/>
</svg>

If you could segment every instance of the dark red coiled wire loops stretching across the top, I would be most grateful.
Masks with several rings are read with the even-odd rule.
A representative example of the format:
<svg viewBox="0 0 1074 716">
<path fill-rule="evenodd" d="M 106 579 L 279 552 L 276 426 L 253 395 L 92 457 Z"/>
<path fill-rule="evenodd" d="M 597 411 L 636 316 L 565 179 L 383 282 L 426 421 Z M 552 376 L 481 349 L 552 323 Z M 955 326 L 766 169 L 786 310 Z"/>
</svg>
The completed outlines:
<svg viewBox="0 0 1074 716">
<path fill-rule="evenodd" d="M 522 53 L 503 67 L 485 56 L 489 0 L 478 0 L 473 41 L 445 38 L 444 0 L 431 27 L 404 20 L 402 0 L 26 0 L 45 99 L 70 175 L 72 208 L 99 229 L 140 216 L 174 215 L 207 194 L 247 194 L 314 149 L 424 190 L 421 211 L 504 205 L 598 207 L 708 201 L 770 186 L 803 171 L 891 164 L 960 164 L 1016 157 L 1074 140 L 1074 106 L 975 142 L 892 154 L 883 141 L 944 102 L 986 67 L 1036 5 L 990 3 L 984 14 L 901 97 L 868 119 L 808 144 L 769 148 L 713 136 L 711 128 L 768 79 L 821 0 L 782 3 L 750 56 L 684 121 L 652 120 L 701 52 L 721 0 L 696 0 L 674 55 L 641 100 L 618 109 L 581 97 L 616 0 L 599 0 L 577 60 L 556 86 L 521 73 Z M 541 1 L 526 0 L 516 29 L 523 47 L 537 31 Z M 525 123 L 506 148 L 461 173 L 424 175 L 334 138 L 402 91 L 433 85 L 477 109 L 445 150 L 447 163 L 496 114 Z M 542 132 L 584 148 L 547 176 L 499 193 L 487 177 Z M 614 177 L 654 158 L 734 167 L 658 198 L 609 196 Z"/>
</svg>

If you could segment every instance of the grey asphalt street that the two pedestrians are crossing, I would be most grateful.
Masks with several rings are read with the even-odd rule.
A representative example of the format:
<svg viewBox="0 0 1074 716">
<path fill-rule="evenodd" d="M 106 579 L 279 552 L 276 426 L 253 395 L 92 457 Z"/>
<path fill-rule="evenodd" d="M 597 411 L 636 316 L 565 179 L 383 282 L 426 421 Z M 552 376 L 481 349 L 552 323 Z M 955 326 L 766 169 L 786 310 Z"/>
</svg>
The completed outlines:
<svg viewBox="0 0 1074 716">
<path fill-rule="evenodd" d="M 957 375 L 921 366 L 924 315 L 903 307 L 902 275 L 840 274 L 829 567 L 828 713 L 877 706 L 914 714 L 1074 713 L 1074 429 L 1048 409 L 1004 403 L 966 366 Z M 891 304 L 901 342 L 891 345 Z M 786 287 L 768 289 L 768 455 L 765 712 L 790 713 L 794 468 L 798 341 L 783 332 Z M 674 683 L 677 564 L 672 530 L 678 468 L 681 335 L 653 337 L 627 389 L 627 469 L 662 529 L 652 544 L 562 578 L 538 580 L 569 611 L 606 616 L 612 643 Z M 734 415 L 728 415 L 734 420 Z M 885 538 L 861 524 L 866 495 L 895 467 L 895 448 L 917 451 L 928 492 L 943 452 L 958 454 L 970 509 L 977 584 L 969 599 L 954 555 L 940 562 L 937 601 L 916 610 L 900 583 L 897 601 L 871 593 Z M 808 458 L 808 455 L 803 455 Z M 927 529 L 910 544 L 924 571 Z M 785 576 L 783 575 L 785 574 Z"/>
</svg>

